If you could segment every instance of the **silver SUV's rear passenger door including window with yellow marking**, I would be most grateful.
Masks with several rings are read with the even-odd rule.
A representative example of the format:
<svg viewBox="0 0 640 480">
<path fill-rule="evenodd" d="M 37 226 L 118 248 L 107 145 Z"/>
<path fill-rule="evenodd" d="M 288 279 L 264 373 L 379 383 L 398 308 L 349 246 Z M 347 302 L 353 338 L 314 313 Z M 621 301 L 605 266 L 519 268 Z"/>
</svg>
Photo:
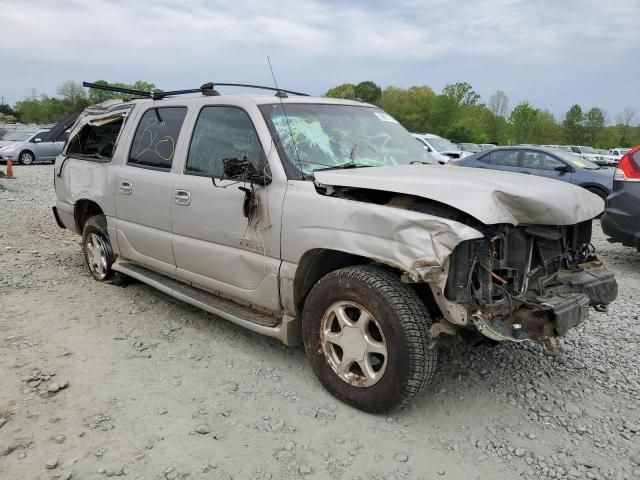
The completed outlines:
<svg viewBox="0 0 640 480">
<path fill-rule="evenodd" d="M 147 110 L 136 129 L 126 163 L 114 168 L 120 255 L 172 277 L 172 166 L 186 113 L 185 107 Z"/>
</svg>

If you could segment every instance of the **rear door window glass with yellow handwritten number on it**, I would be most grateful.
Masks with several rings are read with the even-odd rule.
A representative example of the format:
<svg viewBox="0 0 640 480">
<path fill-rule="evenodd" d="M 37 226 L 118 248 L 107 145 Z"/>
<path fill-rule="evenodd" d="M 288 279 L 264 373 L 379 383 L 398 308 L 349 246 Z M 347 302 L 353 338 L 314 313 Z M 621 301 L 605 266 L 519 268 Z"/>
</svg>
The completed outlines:
<svg viewBox="0 0 640 480">
<path fill-rule="evenodd" d="M 161 107 L 147 110 L 133 137 L 129 165 L 169 170 L 173 163 L 186 107 Z"/>
</svg>

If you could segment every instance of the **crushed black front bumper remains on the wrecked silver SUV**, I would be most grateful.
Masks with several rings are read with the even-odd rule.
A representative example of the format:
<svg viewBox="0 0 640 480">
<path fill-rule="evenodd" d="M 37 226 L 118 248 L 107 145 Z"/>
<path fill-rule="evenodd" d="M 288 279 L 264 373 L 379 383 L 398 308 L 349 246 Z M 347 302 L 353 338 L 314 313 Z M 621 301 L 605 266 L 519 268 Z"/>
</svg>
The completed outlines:
<svg viewBox="0 0 640 480">
<path fill-rule="evenodd" d="M 472 316 L 475 327 L 494 340 L 545 342 L 565 335 L 589 316 L 589 307 L 604 307 L 618 295 L 612 273 L 600 262 L 582 264 L 576 271 L 561 271 L 546 295 L 530 299 L 511 315 L 496 315 L 492 306 Z M 496 306 L 501 310 L 504 305 Z"/>
</svg>

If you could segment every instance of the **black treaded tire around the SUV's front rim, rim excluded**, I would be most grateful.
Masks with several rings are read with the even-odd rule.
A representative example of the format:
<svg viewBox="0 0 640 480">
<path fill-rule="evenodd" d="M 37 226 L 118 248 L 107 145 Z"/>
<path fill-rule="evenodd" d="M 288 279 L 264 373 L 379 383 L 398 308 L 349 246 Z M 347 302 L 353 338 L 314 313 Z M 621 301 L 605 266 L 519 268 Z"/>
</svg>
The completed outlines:
<svg viewBox="0 0 640 480">
<path fill-rule="evenodd" d="M 347 383 L 325 354 L 321 325 L 336 302 L 363 306 L 380 327 L 387 348 L 386 366 L 371 386 Z M 375 265 L 327 274 L 312 288 L 302 313 L 305 351 L 320 382 L 339 400 L 370 413 L 408 404 L 430 382 L 437 363 L 436 349 L 428 348 L 430 326 L 427 308 L 416 292 L 394 273 Z"/>
</svg>

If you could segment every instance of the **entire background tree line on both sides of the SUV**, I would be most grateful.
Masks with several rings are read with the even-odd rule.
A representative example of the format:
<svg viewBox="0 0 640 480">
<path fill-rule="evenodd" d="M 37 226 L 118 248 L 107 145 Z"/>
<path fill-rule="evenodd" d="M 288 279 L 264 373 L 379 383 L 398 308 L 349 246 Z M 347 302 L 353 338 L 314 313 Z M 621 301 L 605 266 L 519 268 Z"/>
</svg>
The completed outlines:
<svg viewBox="0 0 640 480">
<path fill-rule="evenodd" d="M 160 91 L 153 83 L 94 83 L 133 90 Z M 27 98 L 15 106 L 0 105 L 0 122 L 55 123 L 88 105 L 122 98 L 121 93 L 86 89 L 67 81 L 58 87 L 58 96 Z M 429 132 L 454 142 L 510 145 L 591 145 L 596 148 L 631 147 L 640 144 L 640 125 L 632 108 L 626 108 L 614 121 L 600 107 L 573 105 L 558 119 L 549 110 L 520 102 L 513 109 L 509 98 L 498 90 L 482 103 L 480 95 L 467 82 L 446 85 L 439 94 L 428 86 L 410 88 L 389 86 L 382 89 L 372 81 L 344 83 L 324 96 L 360 99 L 378 105 L 411 132 Z"/>
</svg>

